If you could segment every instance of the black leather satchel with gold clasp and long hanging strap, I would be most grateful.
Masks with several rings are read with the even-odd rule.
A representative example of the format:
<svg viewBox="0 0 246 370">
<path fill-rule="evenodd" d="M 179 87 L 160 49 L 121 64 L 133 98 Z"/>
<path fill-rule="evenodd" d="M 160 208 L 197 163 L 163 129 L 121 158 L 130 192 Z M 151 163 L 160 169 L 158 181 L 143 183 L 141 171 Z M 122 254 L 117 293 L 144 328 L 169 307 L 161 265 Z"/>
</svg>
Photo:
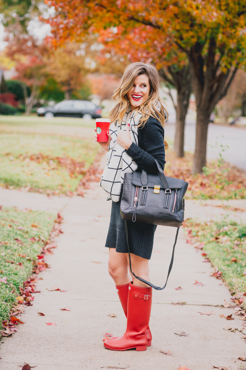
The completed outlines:
<svg viewBox="0 0 246 370">
<path fill-rule="evenodd" d="M 174 249 L 179 228 L 184 221 L 184 195 L 186 194 L 188 183 L 181 179 L 166 177 L 156 159 L 155 162 L 158 168 L 158 175 L 149 175 L 144 169 L 142 169 L 141 173 L 134 171 L 132 174 L 125 174 L 120 210 L 121 218 L 125 221 L 129 265 L 132 275 L 154 289 L 162 290 L 166 286 L 167 280 L 161 288 L 136 276 L 132 272 L 129 247 L 131 238 L 128 232 L 127 221 L 177 227 L 172 258 L 167 274 L 168 279 L 173 266 Z"/>
</svg>

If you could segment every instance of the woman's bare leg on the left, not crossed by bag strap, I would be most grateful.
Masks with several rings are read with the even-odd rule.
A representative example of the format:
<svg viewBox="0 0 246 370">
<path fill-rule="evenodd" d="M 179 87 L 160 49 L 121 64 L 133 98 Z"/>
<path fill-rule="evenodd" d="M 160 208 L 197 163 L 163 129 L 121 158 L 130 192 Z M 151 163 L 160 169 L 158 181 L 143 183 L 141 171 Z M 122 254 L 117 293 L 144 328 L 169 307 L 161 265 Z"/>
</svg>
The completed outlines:
<svg viewBox="0 0 246 370">
<path fill-rule="evenodd" d="M 115 248 L 109 249 L 108 272 L 115 285 L 124 285 L 132 281 L 128 272 L 128 262 L 125 253 L 116 252 Z"/>
</svg>

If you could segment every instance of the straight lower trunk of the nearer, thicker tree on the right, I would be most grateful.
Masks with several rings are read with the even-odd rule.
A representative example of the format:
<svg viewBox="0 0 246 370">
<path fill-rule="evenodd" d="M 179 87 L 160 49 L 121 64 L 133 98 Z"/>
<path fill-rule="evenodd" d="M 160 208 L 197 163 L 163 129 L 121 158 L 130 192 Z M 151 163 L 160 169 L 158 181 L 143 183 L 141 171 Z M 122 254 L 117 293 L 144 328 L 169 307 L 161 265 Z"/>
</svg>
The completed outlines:
<svg viewBox="0 0 246 370">
<path fill-rule="evenodd" d="M 207 133 L 210 114 L 200 107 L 197 108 L 197 127 L 195 132 L 195 154 L 193 174 L 202 173 L 206 165 Z"/>
</svg>

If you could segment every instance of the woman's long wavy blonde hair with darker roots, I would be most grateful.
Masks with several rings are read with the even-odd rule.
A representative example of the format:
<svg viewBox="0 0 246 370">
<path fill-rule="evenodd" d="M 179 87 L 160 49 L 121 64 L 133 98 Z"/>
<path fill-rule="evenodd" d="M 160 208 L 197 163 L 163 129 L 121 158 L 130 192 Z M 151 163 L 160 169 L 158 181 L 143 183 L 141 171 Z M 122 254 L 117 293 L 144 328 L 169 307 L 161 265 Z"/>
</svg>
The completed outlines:
<svg viewBox="0 0 246 370">
<path fill-rule="evenodd" d="M 142 113 L 142 117 L 139 120 L 138 127 L 143 127 L 148 121 L 149 117 L 155 117 L 160 121 L 161 125 L 164 127 L 165 112 L 167 113 L 164 105 L 166 103 L 159 95 L 160 87 L 160 77 L 156 70 L 156 67 L 153 64 L 135 62 L 129 64 L 124 71 L 124 74 L 121 78 L 119 87 L 114 91 L 112 98 L 117 101 L 115 107 L 110 111 L 109 118 L 111 122 L 118 121 L 121 122 L 127 107 L 129 105 L 129 100 L 127 93 L 131 90 L 134 80 L 141 74 L 145 74 L 149 78 L 150 92 L 149 97 L 136 108 L 136 113 Z M 159 109 L 158 109 L 159 108 Z M 168 117 L 168 113 L 167 113 Z M 165 148 L 168 149 L 168 144 L 164 140 Z"/>
</svg>

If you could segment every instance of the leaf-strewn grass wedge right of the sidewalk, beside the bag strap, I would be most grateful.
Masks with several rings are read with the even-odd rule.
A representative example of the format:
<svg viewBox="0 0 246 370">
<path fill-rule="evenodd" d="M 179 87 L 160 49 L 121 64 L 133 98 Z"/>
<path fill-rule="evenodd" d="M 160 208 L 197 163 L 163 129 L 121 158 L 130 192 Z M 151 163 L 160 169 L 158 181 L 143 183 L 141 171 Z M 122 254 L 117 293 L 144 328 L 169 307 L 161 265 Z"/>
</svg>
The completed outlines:
<svg viewBox="0 0 246 370">
<path fill-rule="evenodd" d="M 228 289 L 246 309 L 246 224 L 224 219 L 221 222 L 184 222 L 187 243 L 191 243 L 215 267 Z"/>
</svg>

